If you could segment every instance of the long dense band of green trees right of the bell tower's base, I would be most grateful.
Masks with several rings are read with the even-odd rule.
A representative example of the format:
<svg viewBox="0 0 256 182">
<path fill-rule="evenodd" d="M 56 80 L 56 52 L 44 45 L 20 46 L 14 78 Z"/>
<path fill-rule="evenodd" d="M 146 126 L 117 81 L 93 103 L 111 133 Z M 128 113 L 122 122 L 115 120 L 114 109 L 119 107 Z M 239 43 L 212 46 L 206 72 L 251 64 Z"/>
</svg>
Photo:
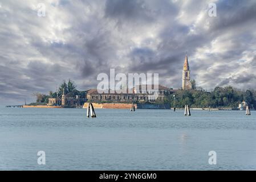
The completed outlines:
<svg viewBox="0 0 256 182">
<path fill-rule="evenodd" d="M 178 90 L 178 92 L 165 98 L 165 103 L 173 107 L 184 107 L 186 104 L 192 107 L 238 107 L 242 101 L 246 101 L 252 108 L 256 108 L 256 90 L 241 91 L 231 86 L 225 88 L 216 87 L 212 92 L 203 90 Z"/>
</svg>

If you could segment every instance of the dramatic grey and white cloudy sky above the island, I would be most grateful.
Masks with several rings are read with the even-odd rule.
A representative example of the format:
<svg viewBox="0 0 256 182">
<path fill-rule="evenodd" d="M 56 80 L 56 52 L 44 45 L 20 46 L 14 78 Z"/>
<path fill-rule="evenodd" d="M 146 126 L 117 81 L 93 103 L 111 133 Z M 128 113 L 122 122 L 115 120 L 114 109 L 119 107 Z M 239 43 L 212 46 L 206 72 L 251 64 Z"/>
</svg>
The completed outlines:
<svg viewBox="0 0 256 182">
<path fill-rule="evenodd" d="M 255 0 L 2 0 L 0 24 L 0 105 L 33 101 L 68 78 L 95 88 L 110 68 L 159 73 L 180 88 L 186 51 L 197 86 L 256 88 Z"/>
</svg>

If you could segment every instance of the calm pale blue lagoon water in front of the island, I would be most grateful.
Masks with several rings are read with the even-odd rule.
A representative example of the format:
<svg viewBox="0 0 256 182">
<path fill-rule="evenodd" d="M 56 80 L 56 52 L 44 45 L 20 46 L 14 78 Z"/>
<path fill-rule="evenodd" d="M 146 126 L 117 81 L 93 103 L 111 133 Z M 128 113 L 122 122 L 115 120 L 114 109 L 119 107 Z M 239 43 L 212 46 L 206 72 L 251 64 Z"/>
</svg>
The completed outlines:
<svg viewBox="0 0 256 182">
<path fill-rule="evenodd" d="M 0 169 L 256 169 L 256 111 L 0 107 Z M 46 165 L 37 152 L 46 152 Z M 208 152 L 217 152 L 209 165 Z"/>
</svg>

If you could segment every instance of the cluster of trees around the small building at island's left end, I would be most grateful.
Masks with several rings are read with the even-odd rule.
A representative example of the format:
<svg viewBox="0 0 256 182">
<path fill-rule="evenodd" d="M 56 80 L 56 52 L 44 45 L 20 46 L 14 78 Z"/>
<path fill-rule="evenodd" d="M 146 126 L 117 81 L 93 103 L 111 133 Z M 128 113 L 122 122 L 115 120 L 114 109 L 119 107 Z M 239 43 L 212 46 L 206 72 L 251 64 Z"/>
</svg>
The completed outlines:
<svg viewBox="0 0 256 182">
<path fill-rule="evenodd" d="M 36 97 L 36 102 L 31 103 L 30 105 L 46 105 L 49 98 L 61 98 L 63 90 L 66 94 L 66 97 L 80 96 L 80 98 L 84 98 L 86 96 L 86 91 L 80 92 L 79 90 L 76 90 L 75 82 L 69 79 L 68 82 L 63 80 L 62 84 L 60 84 L 56 92 L 50 91 L 48 95 L 43 93 L 34 93 L 34 96 Z"/>
</svg>

